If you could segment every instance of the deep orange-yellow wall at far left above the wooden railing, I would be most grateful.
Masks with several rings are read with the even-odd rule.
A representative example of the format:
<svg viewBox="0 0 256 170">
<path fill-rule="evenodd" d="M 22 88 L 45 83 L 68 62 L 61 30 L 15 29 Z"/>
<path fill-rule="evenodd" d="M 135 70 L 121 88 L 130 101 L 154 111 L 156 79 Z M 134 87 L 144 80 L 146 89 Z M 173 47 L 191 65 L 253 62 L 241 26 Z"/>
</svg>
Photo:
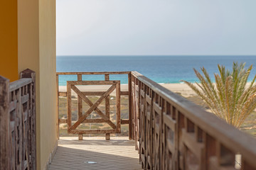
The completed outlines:
<svg viewBox="0 0 256 170">
<path fill-rule="evenodd" d="M 0 75 L 18 79 L 17 1 L 0 2 Z"/>
</svg>

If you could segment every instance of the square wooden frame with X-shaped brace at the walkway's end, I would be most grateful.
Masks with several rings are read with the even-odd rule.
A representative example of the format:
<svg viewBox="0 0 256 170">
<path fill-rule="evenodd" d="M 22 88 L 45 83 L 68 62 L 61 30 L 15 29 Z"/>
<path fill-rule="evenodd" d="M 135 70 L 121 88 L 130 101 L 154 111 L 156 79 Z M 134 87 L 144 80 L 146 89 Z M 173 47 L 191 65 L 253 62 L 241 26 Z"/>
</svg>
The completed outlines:
<svg viewBox="0 0 256 170">
<path fill-rule="evenodd" d="M 107 91 L 81 91 L 78 86 L 86 85 L 111 85 Z M 78 120 L 72 123 L 72 102 L 71 102 L 71 89 L 78 94 Z M 115 90 L 116 94 L 116 125 L 110 120 L 110 94 Z M 95 103 L 92 103 L 87 96 L 100 96 Z M 105 102 L 105 113 L 100 111 L 98 106 L 102 101 Z M 82 114 L 82 101 L 87 103 L 90 108 Z M 110 134 L 121 132 L 121 117 L 120 117 L 120 81 L 67 81 L 67 103 L 68 103 L 68 132 L 73 134 Z M 95 111 L 101 118 L 90 119 L 88 116 Z M 77 129 L 81 123 L 107 123 L 112 129 Z"/>
</svg>

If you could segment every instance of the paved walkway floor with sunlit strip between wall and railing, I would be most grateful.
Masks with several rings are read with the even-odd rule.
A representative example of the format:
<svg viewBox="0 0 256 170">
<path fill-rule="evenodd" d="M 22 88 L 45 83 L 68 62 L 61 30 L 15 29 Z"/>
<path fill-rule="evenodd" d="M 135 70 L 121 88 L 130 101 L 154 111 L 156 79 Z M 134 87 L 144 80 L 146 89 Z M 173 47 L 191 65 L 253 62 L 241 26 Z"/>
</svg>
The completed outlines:
<svg viewBox="0 0 256 170">
<path fill-rule="evenodd" d="M 134 141 L 127 138 L 61 137 L 49 169 L 141 169 Z"/>
</svg>

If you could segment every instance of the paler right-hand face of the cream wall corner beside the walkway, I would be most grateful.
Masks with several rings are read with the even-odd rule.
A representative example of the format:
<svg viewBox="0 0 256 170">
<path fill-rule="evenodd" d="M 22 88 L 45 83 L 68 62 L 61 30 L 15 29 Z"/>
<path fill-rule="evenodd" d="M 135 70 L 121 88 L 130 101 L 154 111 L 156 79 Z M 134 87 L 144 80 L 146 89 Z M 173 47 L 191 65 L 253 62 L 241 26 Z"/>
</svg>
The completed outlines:
<svg viewBox="0 0 256 170">
<path fill-rule="evenodd" d="M 55 0 L 39 0 L 41 169 L 57 142 Z"/>
</svg>

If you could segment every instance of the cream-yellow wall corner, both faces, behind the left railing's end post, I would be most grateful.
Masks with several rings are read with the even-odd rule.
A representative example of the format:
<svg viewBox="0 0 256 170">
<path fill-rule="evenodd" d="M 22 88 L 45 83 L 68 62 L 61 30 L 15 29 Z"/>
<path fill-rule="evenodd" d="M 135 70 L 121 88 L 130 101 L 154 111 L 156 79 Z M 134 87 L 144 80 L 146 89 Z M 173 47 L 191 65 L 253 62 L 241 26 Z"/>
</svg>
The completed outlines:
<svg viewBox="0 0 256 170">
<path fill-rule="evenodd" d="M 37 163 L 45 169 L 57 142 L 55 0 L 18 1 L 18 72 L 36 72 Z"/>
</svg>

